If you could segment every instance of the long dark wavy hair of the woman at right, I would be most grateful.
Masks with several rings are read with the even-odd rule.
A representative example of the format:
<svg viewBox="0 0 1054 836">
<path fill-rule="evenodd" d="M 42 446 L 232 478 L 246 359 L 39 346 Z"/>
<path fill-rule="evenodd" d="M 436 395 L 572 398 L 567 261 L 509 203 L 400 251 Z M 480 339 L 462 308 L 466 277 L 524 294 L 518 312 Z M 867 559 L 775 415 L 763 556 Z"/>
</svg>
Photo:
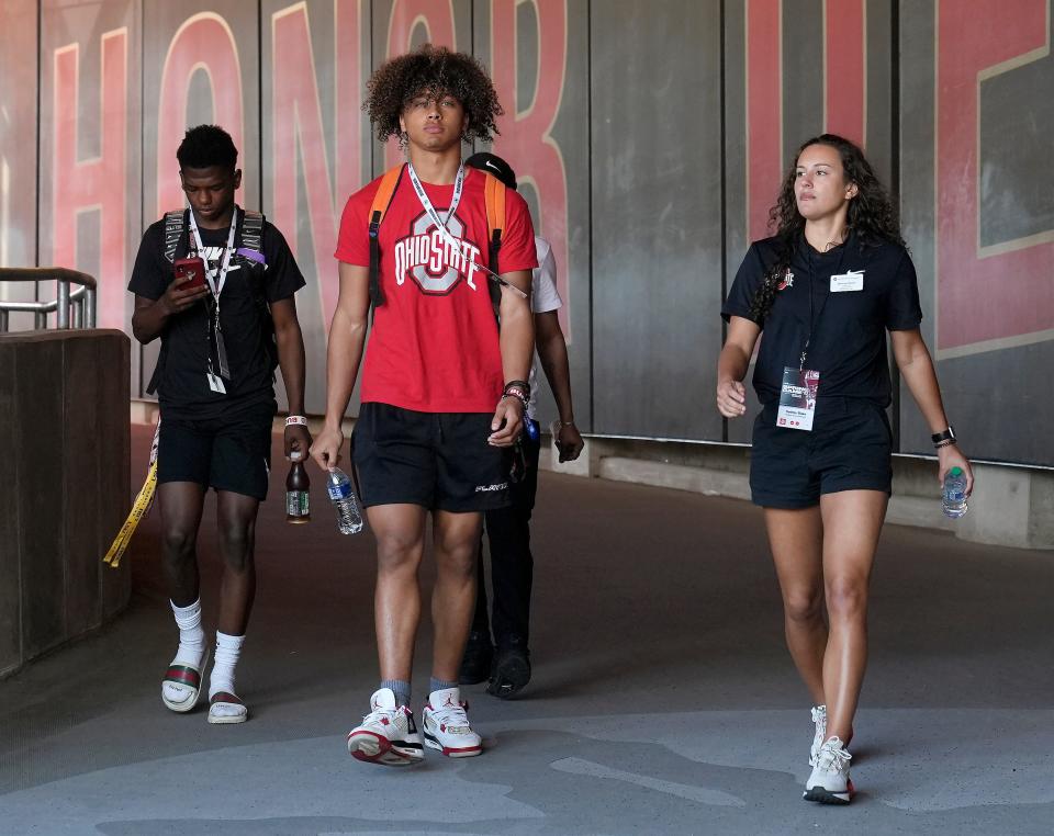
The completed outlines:
<svg viewBox="0 0 1054 836">
<path fill-rule="evenodd" d="M 769 228 L 776 230 L 777 255 L 750 305 L 751 316 L 759 323 L 764 320 L 772 309 L 776 286 L 783 281 L 787 268 L 790 267 L 790 257 L 805 234 L 805 218 L 798 212 L 797 201 L 794 199 L 794 181 L 798 157 L 810 145 L 827 145 L 837 150 L 842 159 L 845 184 L 856 184 L 856 195 L 849 202 L 846 237 L 855 233 L 861 248 L 875 247 L 883 241 L 904 246 L 897 208 L 864 152 L 854 143 L 838 134 L 820 134 L 805 140 L 790 161 L 776 205 L 769 211 Z"/>
</svg>

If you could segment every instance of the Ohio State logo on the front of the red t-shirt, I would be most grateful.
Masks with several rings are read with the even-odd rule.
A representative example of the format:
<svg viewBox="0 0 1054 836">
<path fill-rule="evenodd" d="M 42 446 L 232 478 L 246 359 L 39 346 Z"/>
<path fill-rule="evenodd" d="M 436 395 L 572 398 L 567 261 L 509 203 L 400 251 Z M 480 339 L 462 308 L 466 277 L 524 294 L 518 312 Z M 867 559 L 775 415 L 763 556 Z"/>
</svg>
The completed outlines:
<svg viewBox="0 0 1054 836">
<path fill-rule="evenodd" d="M 411 226 L 411 233 L 395 242 L 395 283 L 400 286 L 413 279 L 423 293 L 445 295 L 464 279 L 473 291 L 480 248 L 464 240 L 464 224 L 455 213 L 447 221 L 451 241 L 428 217 L 422 213 Z"/>
</svg>

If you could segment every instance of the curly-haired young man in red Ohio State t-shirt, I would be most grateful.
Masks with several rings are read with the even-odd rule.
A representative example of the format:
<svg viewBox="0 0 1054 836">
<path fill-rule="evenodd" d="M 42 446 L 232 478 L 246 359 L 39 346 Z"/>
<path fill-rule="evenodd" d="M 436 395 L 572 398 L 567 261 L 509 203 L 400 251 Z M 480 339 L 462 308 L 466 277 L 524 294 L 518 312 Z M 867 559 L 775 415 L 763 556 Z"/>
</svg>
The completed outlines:
<svg viewBox="0 0 1054 836">
<path fill-rule="evenodd" d="M 489 176 L 463 166 L 461 145 L 489 142 L 501 105 L 471 56 L 425 45 L 380 67 L 367 108 L 378 137 L 407 152 L 377 229 L 371 298 L 370 222 L 381 178 L 348 200 L 336 258 L 340 293 L 329 330 L 325 427 L 312 447 L 322 467 L 340 460 L 340 422 L 373 325 L 352 443 L 362 504 L 377 538 L 374 595 L 381 686 L 348 735 L 359 760 L 419 762 L 410 708 L 421 615 L 417 570 L 433 515 L 433 675 L 422 715 L 425 745 L 479 755 L 458 690 L 475 605 L 483 511 L 509 504 L 507 448 L 529 398 L 534 349 L 529 293 L 537 267 L 523 197 L 505 196 L 501 276 L 489 271 Z M 497 312 L 490 283 L 501 286 Z M 495 318 L 501 319 L 501 329 Z"/>
</svg>

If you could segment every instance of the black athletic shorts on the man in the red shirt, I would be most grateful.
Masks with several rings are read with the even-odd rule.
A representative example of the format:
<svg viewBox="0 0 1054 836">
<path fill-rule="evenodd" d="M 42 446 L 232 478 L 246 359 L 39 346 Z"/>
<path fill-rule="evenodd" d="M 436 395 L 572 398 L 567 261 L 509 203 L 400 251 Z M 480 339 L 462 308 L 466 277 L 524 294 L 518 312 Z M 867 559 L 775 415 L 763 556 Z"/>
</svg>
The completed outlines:
<svg viewBox="0 0 1054 836">
<path fill-rule="evenodd" d="M 493 417 L 362 404 L 351 438 L 362 505 L 455 512 L 507 506 L 508 453 L 486 443 Z"/>
</svg>

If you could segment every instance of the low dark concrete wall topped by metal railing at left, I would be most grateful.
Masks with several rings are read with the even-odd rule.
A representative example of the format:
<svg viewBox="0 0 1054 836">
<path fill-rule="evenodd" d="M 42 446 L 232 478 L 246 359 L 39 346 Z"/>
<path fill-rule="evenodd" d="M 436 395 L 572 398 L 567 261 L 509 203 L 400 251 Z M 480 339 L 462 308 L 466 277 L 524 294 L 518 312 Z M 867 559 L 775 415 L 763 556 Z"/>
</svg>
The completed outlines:
<svg viewBox="0 0 1054 836">
<path fill-rule="evenodd" d="M 0 676 L 127 605 L 102 563 L 130 509 L 128 338 L 0 336 Z"/>
</svg>

